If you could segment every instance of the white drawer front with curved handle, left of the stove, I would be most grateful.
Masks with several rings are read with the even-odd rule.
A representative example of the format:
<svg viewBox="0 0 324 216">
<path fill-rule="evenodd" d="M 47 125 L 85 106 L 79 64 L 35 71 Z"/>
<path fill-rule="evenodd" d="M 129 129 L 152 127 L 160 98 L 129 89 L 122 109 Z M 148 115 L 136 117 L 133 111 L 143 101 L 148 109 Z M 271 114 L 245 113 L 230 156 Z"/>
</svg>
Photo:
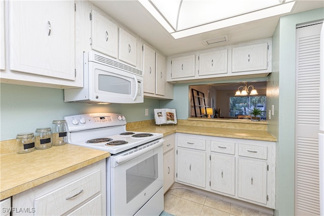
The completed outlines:
<svg viewBox="0 0 324 216">
<path fill-rule="evenodd" d="M 100 170 L 34 200 L 35 215 L 61 215 L 100 192 Z"/>
</svg>

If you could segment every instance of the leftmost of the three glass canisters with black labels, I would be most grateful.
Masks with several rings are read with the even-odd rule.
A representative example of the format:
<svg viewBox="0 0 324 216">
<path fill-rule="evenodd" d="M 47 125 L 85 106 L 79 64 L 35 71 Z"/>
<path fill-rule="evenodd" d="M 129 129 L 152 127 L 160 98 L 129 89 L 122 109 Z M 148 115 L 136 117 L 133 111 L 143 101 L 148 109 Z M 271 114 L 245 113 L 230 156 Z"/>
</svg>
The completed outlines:
<svg viewBox="0 0 324 216">
<path fill-rule="evenodd" d="M 35 136 L 33 133 L 17 134 L 17 147 L 18 154 L 24 154 L 35 150 Z"/>
</svg>

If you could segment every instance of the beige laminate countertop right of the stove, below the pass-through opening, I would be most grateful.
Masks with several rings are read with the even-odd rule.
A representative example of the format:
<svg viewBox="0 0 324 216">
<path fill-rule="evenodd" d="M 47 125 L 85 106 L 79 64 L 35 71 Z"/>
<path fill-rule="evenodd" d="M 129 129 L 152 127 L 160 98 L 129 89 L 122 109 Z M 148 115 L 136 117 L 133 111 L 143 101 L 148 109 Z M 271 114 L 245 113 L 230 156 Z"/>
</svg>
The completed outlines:
<svg viewBox="0 0 324 216">
<path fill-rule="evenodd" d="M 144 127 L 133 128 L 131 131 L 147 132 L 147 133 L 161 133 L 164 136 L 173 133 L 185 133 L 196 135 L 207 135 L 216 137 L 239 138 L 249 140 L 262 141 L 276 141 L 267 131 L 252 130 L 252 129 L 238 129 L 238 128 L 223 128 L 197 125 L 148 125 Z"/>
</svg>

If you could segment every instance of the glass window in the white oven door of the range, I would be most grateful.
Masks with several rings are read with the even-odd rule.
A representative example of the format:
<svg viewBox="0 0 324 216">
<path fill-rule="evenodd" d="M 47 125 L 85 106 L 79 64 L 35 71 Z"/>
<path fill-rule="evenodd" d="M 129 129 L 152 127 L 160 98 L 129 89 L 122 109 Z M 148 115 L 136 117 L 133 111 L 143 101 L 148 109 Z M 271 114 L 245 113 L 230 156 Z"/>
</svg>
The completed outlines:
<svg viewBox="0 0 324 216">
<path fill-rule="evenodd" d="M 157 154 L 126 170 L 127 203 L 158 178 Z"/>
</svg>

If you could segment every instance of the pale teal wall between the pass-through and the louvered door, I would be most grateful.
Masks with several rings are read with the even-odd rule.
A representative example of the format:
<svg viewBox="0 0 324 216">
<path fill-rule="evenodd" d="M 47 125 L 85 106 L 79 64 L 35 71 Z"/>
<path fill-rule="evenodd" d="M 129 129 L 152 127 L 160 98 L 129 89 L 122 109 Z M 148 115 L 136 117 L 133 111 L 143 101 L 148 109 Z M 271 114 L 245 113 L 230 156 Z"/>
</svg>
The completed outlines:
<svg viewBox="0 0 324 216">
<path fill-rule="evenodd" d="M 272 37 L 267 100 L 275 107 L 268 127 L 277 138 L 275 215 L 294 215 L 296 25 L 323 19 L 323 8 L 281 17 Z"/>
</svg>

